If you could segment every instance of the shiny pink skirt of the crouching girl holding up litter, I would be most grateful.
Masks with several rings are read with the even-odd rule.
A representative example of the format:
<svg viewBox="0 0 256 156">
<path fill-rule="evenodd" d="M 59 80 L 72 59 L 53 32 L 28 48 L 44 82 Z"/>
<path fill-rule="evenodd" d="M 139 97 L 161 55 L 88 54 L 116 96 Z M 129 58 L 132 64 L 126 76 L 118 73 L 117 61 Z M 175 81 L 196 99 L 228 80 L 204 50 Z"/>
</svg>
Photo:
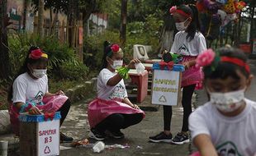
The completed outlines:
<svg viewBox="0 0 256 156">
<path fill-rule="evenodd" d="M 92 127 L 102 122 L 106 117 L 114 113 L 135 114 L 141 113 L 145 117 L 145 112 L 140 109 L 131 108 L 126 103 L 120 103 L 113 100 L 94 99 L 89 103 L 88 121 Z"/>
</svg>

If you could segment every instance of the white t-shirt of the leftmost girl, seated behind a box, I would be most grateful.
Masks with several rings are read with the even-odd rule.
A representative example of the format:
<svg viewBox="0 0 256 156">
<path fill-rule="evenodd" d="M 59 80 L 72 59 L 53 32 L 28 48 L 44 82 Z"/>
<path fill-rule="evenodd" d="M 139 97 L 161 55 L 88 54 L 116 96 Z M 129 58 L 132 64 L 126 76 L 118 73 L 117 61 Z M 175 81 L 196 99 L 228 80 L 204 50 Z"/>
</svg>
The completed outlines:
<svg viewBox="0 0 256 156">
<path fill-rule="evenodd" d="M 45 93 L 48 92 L 48 78 L 45 75 L 40 79 L 32 79 L 27 73 L 23 73 L 14 80 L 12 102 L 26 103 L 34 101 L 40 103 Z"/>
</svg>

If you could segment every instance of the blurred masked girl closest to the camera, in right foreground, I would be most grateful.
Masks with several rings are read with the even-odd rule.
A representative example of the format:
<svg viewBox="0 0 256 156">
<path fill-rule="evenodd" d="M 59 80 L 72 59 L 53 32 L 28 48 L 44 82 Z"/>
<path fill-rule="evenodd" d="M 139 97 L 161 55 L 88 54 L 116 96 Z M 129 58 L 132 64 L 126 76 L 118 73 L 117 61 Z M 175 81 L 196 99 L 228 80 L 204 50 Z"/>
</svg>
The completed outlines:
<svg viewBox="0 0 256 156">
<path fill-rule="evenodd" d="M 256 154 L 256 103 L 244 98 L 253 76 L 243 52 L 211 49 L 197 57 L 210 101 L 189 117 L 192 141 L 204 156 Z"/>
</svg>

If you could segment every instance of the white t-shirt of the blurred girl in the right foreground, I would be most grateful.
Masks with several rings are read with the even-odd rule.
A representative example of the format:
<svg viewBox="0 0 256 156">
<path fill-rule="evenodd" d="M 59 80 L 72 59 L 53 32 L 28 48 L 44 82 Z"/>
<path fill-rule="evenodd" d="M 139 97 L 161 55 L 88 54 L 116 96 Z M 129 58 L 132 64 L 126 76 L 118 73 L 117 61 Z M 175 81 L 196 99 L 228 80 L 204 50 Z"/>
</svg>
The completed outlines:
<svg viewBox="0 0 256 156">
<path fill-rule="evenodd" d="M 256 103 L 245 102 L 244 111 L 235 117 L 223 116 L 210 102 L 197 108 L 189 117 L 192 140 L 210 135 L 219 155 L 256 154 Z"/>
</svg>

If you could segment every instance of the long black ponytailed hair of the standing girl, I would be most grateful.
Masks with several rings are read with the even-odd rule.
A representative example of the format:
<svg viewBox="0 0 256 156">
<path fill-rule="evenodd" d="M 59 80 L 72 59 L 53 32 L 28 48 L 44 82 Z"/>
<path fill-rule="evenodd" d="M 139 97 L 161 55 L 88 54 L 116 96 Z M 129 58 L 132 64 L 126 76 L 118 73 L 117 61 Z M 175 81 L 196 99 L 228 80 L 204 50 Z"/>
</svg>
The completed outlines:
<svg viewBox="0 0 256 156">
<path fill-rule="evenodd" d="M 192 39 L 194 39 L 196 32 L 200 30 L 200 22 L 199 22 L 197 7 L 193 4 L 188 6 L 183 4 L 183 5 L 180 5 L 178 9 L 191 15 L 192 21 L 190 25 L 188 25 L 186 30 L 187 32 L 186 38 L 188 41 L 191 41 Z"/>
</svg>

